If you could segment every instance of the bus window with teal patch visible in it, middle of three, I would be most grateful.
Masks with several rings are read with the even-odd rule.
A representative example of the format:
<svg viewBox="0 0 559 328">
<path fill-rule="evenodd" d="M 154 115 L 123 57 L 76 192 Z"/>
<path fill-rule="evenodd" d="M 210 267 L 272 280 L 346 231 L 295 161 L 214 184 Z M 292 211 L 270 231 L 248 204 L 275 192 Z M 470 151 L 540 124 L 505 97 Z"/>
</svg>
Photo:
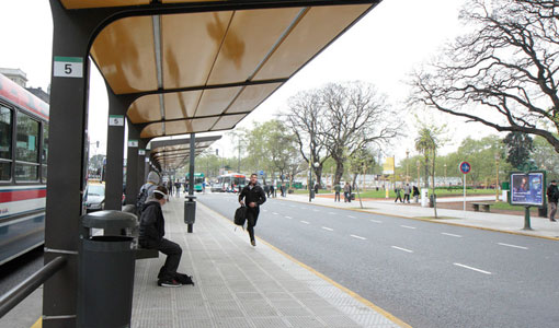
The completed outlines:
<svg viewBox="0 0 559 328">
<path fill-rule="evenodd" d="M 15 139 L 16 180 L 32 181 L 38 179 L 38 121 L 32 119 L 26 114 L 18 113 L 18 132 Z"/>
</svg>

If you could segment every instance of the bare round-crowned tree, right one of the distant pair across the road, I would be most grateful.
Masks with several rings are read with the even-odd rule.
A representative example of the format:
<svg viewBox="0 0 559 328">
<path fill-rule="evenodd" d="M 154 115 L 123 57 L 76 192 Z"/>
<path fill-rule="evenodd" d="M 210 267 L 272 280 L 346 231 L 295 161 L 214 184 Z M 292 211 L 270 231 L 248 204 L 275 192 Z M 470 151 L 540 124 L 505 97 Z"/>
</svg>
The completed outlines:
<svg viewBox="0 0 559 328">
<path fill-rule="evenodd" d="M 344 163 L 370 144 L 381 147 L 397 137 L 402 120 L 372 84 L 331 83 L 320 91 L 324 110 L 319 137 L 335 162 L 334 185 L 344 173 Z"/>
</svg>

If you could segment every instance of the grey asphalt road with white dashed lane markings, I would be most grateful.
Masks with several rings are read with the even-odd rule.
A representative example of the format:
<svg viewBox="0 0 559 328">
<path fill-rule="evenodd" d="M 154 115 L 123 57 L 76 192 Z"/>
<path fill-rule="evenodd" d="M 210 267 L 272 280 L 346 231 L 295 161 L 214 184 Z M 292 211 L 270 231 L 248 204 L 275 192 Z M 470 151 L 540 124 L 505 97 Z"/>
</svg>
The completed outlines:
<svg viewBox="0 0 559 328">
<path fill-rule="evenodd" d="M 198 201 L 229 219 L 238 207 Z M 559 327 L 554 241 L 277 199 L 255 233 L 412 327 Z"/>
</svg>

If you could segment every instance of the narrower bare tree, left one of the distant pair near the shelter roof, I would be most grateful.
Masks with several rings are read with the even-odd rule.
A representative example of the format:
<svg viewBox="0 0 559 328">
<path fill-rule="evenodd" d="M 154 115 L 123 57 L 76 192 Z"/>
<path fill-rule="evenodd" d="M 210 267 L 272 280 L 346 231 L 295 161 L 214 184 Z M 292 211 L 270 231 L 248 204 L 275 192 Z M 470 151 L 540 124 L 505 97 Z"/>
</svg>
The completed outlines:
<svg viewBox="0 0 559 328">
<path fill-rule="evenodd" d="M 318 91 L 303 91 L 288 101 L 288 112 L 283 115 L 287 127 L 295 134 L 299 152 L 315 171 L 317 181 L 322 177 L 322 165 L 330 157 L 319 138 L 323 124 L 323 106 Z M 315 167 L 313 163 L 318 163 Z"/>
</svg>

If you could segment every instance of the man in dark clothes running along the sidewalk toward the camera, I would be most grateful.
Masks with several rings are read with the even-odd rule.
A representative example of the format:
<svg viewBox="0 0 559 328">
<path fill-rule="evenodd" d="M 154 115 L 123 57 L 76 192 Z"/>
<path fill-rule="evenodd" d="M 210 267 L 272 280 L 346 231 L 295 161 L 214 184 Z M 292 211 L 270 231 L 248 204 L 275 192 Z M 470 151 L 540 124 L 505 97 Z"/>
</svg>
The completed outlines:
<svg viewBox="0 0 559 328">
<path fill-rule="evenodd" d="M 244 199 L 244 201 L 243 201 Z M 260 206 L 266 201 L 264 189 L 258 185 L 258 175 L 251 174 L 250 183 L 239 194 L 239 203 L 247 204 L 247 230 L 249 231 L 250 244 L 256 246 L 254 241 L 254 226 L 259 219 Z"/>
</svg>

